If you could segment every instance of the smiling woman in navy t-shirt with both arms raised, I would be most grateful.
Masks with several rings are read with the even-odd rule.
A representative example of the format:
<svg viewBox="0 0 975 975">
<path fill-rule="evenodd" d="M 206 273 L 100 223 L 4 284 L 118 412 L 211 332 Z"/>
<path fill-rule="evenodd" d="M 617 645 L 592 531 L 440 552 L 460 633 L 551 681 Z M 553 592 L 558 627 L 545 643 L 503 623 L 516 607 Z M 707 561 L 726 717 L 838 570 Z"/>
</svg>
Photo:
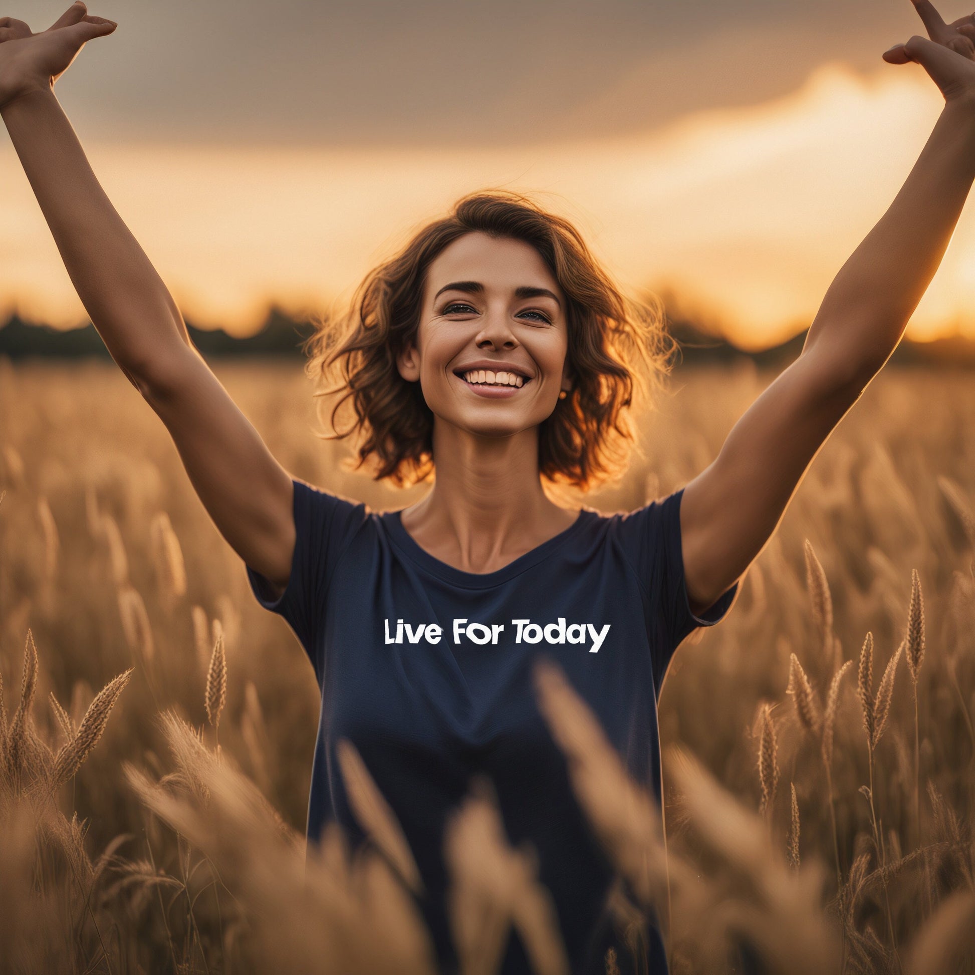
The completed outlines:
<svg viewBox="0 0 975 975">
<path fill-rule="evenodd" d="M 81 2 L 37 34 L 0 19 L 0 112 L 72 284 L 172 434 L 254 597 L 288 621 L 314 668 L 308 839 L 337 823 L 356 850 L 370 841 L 339 761 L 351 742 L 403 827 L 421 882 L 405 879 L 444 972 L 472 969 L 458 944 L 495 920 L 458 921 L 444 856 L 446 826 L 482 775 L 508 838 L 532 851 L 532 881 L 551 892 L 559 937 L 545 970 L 667 971 L 652 911 L 626 925 L 632 913 L 614 910 L 619 878 L 532 676 L 541 658 L 558 664 L 661 800 L 670 661 L 724 618 L 813 457 L 889 358 L 975 178 L 975 25 L 915 3 L 932 39 L 885 57 L 917 60 L 946 105 L 903 190 L 719 456 L 667 497 L 612 515 L 563 508 L 544 482 L 588 488 L 622 470 L 628 409 L 667 370 L 670 343 L 659 313 L 619 292 L 567 221 L 511 193 L 465 197 L 313 336 L 308 370 L 325 380 L 319 395 L 338 396 L 332 421 L 351 409 L 334 435 L 358 436 L 376 478 L 432 482 L 403 511 L 371 511 L 277 462 L 92 173 L 53 85 L 115 25 Z M 837 859 L 839 876 L 839 847 Z M 528 955 L 512 931 L 505 975 L 527 973 Z"/>
</svg>

